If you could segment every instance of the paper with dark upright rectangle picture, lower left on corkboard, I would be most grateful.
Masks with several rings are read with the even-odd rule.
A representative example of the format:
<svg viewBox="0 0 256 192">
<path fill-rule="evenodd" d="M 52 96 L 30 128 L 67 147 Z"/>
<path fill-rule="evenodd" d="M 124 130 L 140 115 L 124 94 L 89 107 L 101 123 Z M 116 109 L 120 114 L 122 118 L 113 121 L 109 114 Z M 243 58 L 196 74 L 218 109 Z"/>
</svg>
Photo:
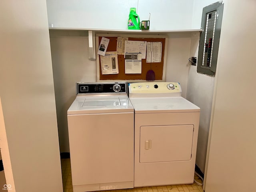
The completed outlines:
<svg viewBox="0 0 256 192">
<path fill-rule="evenodd" d="M 106 52 L 105 56 L 100 56 L 101 73 L 105 74 L 118 74 L 118 58 L 116 51 Z"/>
</svg>

